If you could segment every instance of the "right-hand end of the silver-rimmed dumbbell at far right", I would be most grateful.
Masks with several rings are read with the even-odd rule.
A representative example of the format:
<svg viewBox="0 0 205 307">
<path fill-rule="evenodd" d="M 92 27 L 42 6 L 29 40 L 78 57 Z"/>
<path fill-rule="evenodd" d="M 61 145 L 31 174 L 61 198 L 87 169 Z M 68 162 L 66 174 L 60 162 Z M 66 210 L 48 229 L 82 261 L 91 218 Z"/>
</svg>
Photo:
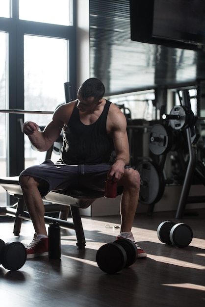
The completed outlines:
<svg viewBox="0 0 205 307">
<path fill-rule="evenodd" d="M 183 223 L 178 223 L 170 231 L 170 240 L 177 247 L 188 246 L 193 238 L 192 229 Z"/>
</svg>

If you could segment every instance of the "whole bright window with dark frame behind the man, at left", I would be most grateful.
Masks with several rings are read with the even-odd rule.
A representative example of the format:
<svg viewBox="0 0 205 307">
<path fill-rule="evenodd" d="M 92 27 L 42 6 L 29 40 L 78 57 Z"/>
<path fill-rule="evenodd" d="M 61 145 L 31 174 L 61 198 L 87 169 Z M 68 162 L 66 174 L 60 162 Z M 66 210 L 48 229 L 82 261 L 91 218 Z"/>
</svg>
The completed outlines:
<svg viewBox="0 0 205 307">
<path fill-rule="evenodd" d="M 73 0 L 0 0 L 0 109 L 33 112 L 0 113 L 1 176 L 18 176 L 45 159 L 22 124 L 47 125 L 52 114 L 43 111 L 65 103 L 65 82 L 76 92 L 75 6 Z"/>
</svg>

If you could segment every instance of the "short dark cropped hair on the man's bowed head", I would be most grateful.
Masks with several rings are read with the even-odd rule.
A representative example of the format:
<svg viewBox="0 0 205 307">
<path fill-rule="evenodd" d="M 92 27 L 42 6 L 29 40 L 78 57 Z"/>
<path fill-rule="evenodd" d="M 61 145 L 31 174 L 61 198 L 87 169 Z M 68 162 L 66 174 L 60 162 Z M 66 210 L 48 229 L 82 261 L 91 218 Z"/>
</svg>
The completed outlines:
<svg viewBox="0 0 205 307">
<path fill-rule="evenodd" d="M 94 97 L 96 101 L 103 98 L 105 92 L 104 85 L 102 81 L 98 78 L 89 78 L 84 81 L 79 88 L 79 93 L 83 99 L 88 99 L 89 97 Z"/>
</svg>

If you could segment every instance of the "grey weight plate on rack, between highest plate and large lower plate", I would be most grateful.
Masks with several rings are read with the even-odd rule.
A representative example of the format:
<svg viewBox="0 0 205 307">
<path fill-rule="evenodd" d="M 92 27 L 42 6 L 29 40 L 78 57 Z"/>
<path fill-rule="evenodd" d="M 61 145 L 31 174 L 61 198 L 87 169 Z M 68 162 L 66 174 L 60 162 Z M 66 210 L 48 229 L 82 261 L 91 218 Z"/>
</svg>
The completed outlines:
<svg viewBox="0 0 205 307">
<path fill-rule="evenodd" d="M 156 124 L 150 130 L 149 148 L 154 154 L 168 153 L 172 146 L 169 128 Z"/>
</svg>

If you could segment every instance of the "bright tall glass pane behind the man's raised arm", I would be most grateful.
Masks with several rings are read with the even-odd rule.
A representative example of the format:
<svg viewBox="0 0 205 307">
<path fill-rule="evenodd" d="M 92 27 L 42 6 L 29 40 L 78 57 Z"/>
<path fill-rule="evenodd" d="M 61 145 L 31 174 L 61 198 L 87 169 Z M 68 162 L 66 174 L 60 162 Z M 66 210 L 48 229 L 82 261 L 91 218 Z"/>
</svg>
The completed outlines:
<svg viewBox="0 0 205 307">
<path fill-rule="evenodd" d="M 54 111 L 65 103 L 64 82 L 67 80 L 68 41 L 33 35 L 24 36 L 25 109 Z M 25 121 L 43 127 L 52 115 L 25 114 Z M 58 158 L 58 157 L 56 157 Z M 45 153 L 34 151 L 25 138 L 26 167 L 43 162 Z"/>
</svg>

